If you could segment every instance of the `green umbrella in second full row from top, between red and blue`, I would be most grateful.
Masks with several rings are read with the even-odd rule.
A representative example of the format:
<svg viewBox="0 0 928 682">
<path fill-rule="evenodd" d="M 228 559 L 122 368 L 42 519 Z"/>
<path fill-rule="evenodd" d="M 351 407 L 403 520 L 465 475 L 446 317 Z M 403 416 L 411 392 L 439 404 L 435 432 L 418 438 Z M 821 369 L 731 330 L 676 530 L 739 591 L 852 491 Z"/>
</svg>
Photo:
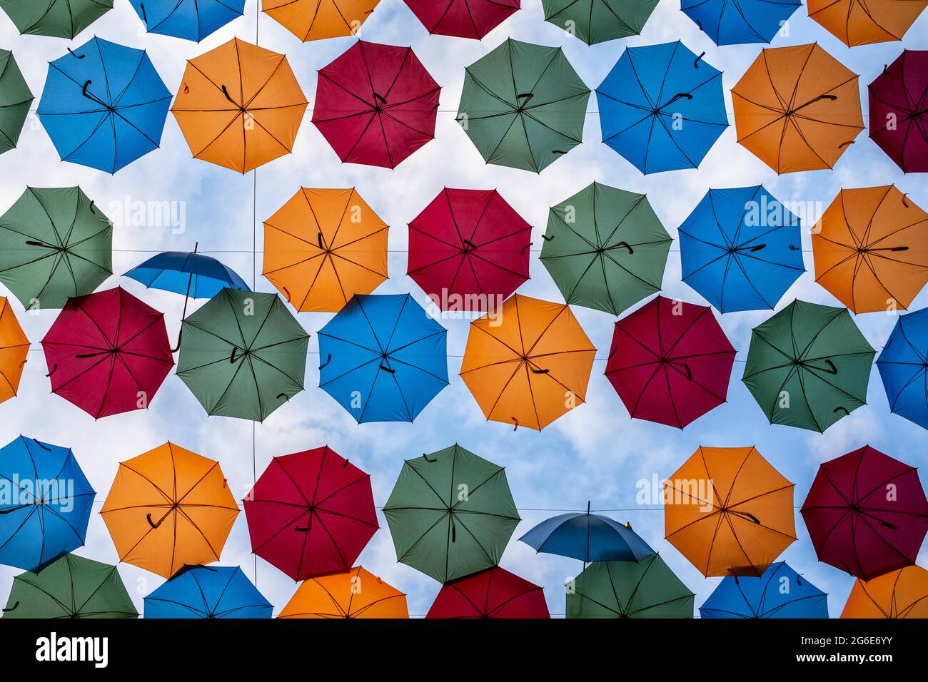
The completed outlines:
<svg viewBox="0 0 928 682">
<path fill-rule="evenodd" d="M 661 290 L 672 241 L 645 195 L 599 183 L 548 212 L 544 239 L 564 300 L 612 315 Z"/>
</svg>

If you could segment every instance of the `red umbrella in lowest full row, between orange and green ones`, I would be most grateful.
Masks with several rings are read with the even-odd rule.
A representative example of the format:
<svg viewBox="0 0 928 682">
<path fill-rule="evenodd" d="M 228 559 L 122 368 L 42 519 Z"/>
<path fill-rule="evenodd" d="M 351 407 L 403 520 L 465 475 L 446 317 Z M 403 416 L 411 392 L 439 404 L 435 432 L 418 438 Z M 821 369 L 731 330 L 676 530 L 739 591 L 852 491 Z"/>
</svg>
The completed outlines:
<svg viewBox="0 0 928 682">
<path fill-rule="evenodd" d="M 274 457 L 244 507 L 251 551 L 293 580 L 347 571 L 379 527 L 370 475 L 328 446 Z"/>
</svg>

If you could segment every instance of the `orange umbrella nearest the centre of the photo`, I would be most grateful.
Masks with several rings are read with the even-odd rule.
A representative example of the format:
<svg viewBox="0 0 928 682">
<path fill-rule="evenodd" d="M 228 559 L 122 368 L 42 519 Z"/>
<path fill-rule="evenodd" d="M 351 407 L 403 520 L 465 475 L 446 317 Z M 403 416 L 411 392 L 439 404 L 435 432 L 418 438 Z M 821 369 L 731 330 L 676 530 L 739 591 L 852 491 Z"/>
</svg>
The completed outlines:
<svg viewBox="0 0 928 682">
<path fill-rule="evenodd" d="M 516 294 L 470 324 L 460 374 L 487 419 L 541 431 L 584 402 L 595 354 L 570 306 Z"/>
</svg>

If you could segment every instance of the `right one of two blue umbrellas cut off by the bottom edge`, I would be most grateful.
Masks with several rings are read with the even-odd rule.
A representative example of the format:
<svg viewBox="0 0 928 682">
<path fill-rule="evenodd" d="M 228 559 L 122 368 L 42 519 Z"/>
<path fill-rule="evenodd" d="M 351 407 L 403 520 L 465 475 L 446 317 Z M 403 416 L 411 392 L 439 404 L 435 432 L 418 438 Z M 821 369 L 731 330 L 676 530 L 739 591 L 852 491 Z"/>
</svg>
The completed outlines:
<svg viewBox="0 0 928 682">
<path fill-rule="evenodd" d="M 828 618 L 828 595 L 777 561 L 759 578 L 723 578 L 699 612 L 702 618 Z"/>
</svg>

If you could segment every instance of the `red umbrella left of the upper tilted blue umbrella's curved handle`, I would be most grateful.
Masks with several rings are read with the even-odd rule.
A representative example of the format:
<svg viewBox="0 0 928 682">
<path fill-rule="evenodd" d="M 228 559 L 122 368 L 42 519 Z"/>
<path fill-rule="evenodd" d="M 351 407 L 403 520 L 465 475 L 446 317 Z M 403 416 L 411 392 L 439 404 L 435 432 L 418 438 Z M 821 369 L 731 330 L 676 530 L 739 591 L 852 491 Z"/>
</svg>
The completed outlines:
<svg viewBox="0 0 928 682">
<path fill-rule="evenodd" d="M 164 315 L 121 287 L 68 299 L 42 348 L 52 392 L 97 419 L 148 407 L 174 367 Z"/>
</svg>

